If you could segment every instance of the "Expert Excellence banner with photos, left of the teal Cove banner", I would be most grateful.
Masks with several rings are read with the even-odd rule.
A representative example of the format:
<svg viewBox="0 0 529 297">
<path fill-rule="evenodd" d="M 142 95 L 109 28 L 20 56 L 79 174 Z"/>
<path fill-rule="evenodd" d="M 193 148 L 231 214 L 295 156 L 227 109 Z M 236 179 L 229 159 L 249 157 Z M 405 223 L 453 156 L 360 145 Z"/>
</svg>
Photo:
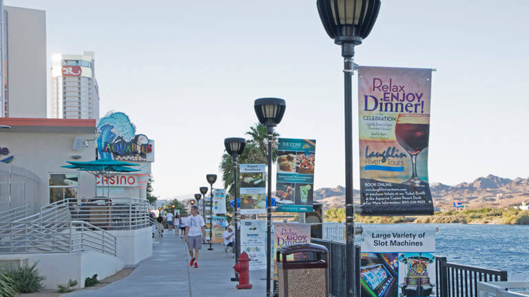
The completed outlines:
<svg viewBox="0 0 529 297">
<path fill-rule="evenodd" d="M 265 164 L 240 164 L 240 213 L 263 214 L 267 212 Z"/>
</svg>

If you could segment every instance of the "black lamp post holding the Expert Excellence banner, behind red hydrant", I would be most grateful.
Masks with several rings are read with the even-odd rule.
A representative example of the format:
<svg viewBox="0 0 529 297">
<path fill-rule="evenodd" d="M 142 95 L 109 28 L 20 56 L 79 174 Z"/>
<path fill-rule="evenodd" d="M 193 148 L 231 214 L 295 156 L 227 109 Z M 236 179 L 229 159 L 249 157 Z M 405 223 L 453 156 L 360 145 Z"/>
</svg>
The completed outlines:
<svg viewBox="0 0 529 297">
<path fill-rule="evenodd" d="M 239 137 L 225 138 L 224 147 L 228 155 L 231 155 L 231 159 L 234 161 L 234 224 L 235 224 L 235 263 L 239 259 L 240 252 L 240 240 L 239 240 L 239 228 L 237 225 L 237 181 L 238 175 L 238 159 L 245 150 L 246 140 Z M 235 278 L 231 278 L 231 281 L 239 281 L 238 274 L 235 274 Z"/>
</svg>

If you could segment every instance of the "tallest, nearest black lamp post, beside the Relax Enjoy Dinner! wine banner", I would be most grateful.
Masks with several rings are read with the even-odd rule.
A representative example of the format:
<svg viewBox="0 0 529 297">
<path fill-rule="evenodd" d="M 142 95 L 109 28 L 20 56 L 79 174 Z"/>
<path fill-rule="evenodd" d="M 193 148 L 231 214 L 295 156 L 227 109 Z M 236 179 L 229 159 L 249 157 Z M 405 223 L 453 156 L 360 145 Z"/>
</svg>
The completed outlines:
<svg viewBox="0 0 529 297">
<path fill-rule="evenodd" d="M 325 31 L 334 43 L 342 46 L 344 57 L 346 290 L 348 297 L 356 297 L 359 292 L 356 292 L 358 267 L 355 267 L 351 76 L 355 70 L 355 45 L 360 45 L 373 29 L 380 0 L 318 0 L 316 5 Z"/>
</svg>

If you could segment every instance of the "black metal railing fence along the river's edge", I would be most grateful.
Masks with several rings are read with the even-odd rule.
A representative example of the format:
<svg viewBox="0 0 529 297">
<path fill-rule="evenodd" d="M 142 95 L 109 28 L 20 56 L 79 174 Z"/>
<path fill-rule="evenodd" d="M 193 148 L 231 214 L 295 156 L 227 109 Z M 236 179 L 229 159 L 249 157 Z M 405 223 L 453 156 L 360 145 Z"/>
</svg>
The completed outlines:
<svg viewBox="0 0 529 297">
<path fill-rule="evenodd" d="M 311 242 L 324 245 L 329 250 L 329 294 L 346 297 L 345 243 L 315 238 Z M 360 245 L 356 245 L 356 265 L 360 270 Z M 478 297 L 477 283 L 480 281 L 507 281 L 507 272 L 504 270 L 448 263 L 446 257 L 440 256 L 436 257 L 435 275 L 435 292 L 438 297 Z M 357 276 L 360 277 L 360 274 Z M 360 278 L 357 278 L 356 284 L 360 294 Z"/>
</svg>

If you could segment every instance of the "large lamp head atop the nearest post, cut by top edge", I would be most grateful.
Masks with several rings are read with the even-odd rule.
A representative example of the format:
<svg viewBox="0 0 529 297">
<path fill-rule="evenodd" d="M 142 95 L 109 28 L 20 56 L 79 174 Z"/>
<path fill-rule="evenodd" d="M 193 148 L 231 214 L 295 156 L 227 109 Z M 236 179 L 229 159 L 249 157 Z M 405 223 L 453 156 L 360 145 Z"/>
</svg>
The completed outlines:
<svg viewBox="0 0 529 297">
<path fill-rule="evenodd" d="M 362 43 L 380 10 L 380 0 L 318 0 L 316 5 L 325 31 L 337 44 Z"/>
</svg>

